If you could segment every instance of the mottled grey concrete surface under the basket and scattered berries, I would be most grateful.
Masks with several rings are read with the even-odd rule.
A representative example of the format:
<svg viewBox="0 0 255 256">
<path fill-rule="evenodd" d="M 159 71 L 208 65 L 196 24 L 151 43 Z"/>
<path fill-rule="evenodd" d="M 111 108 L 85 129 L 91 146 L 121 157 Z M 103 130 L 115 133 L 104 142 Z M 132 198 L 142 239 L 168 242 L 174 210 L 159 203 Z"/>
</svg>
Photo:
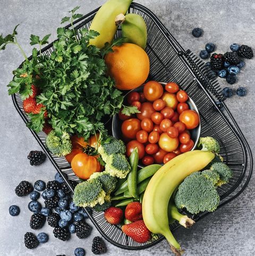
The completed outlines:
<svg viewBox="0 0 255 256">
<path fill-rule="evenodd" d="M 60 20 L 74 6 L 81 5 L 80 12 L 94 10 L 103 0 L 0 0 L 0 33 L 11 32 L 20 23 L 18 29 L 19 42 L 25 53 L 30 55 L 30 34 L 44 36 L 52 33 L 50 39 L 56 37 L 55 28 Z M 217 45 L 218 52 L 226 52 L 231 43 L 247 44 L 255 49 L 255 3 L 252 0 L 139 0 L 158 15 L 159 19 L 172 32 L 184 48 L 199 53 L 208 42 Z M 201 38 L 193 38 L 191 30 L 202 27 Z M 18 49 L 8 46 L 0 52 L 0 255 L 1 256 L 54 256 L 74 255 L 76 247 L 83 247 L 86 255 L 91 252 L 92 238 L 99 233 L 93 228 L 92 235 L 84 240 L 72 236 L 68 242 L 54 238 L 52 228 L 45 225 L 40 230 L 49 234 L 49 242 L 41 244 L 35 250 L 28 250 L 23 244 L 23 235 L 29 228 L 30 213 L 27 209 L 29 197 L 19 198 L 14 187 L 21 180 L 32 183 L 37 179 L 53 179 L 55 170 L 49 161 L 39 167 L 31 167 L 27 160 L 30 150 L 40 150 L 35 138 L 25 127 L 14 109 L 11 97 L 7 95 L 6 85 L 12 79 L 12 70 L 22 62 Z M 226 101 L 237 123 L 241 127 L 251 150 L 254 152 L 254 80 L 255 60 L 248 60 L 239 75 L 239 82 L 233 86 L 245 86 L 248 95 L 240 98 L 232 97 Z M 222 86 L 225 84 L 220 80 Z M 175 233 L 189 256 L 253 256 L 255 254 L 255 178 L 251 179 L 248 188 L 236 200 L 227 204 L 205 219 L 199 221 L 192 229 L 178 230 Z M 18 204 L 21 213 L 18 217 L 8 214 L 8 207 Z M 106 255 L 169 255 L 171 254 L 166 241 L 143 251 L 125 251 L 107 243 Z"/>
</svg>

